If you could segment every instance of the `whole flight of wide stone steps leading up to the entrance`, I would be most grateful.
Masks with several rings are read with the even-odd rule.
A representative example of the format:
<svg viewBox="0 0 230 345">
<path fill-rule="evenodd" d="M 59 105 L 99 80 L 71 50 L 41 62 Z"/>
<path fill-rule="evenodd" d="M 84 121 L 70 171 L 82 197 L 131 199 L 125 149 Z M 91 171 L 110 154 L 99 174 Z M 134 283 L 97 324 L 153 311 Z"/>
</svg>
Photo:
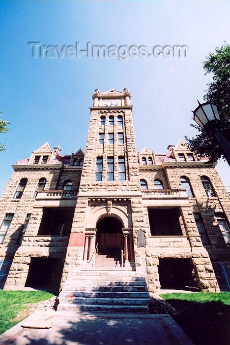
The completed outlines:
<svg viewBox="0 0 230 345">
<path fill-rule="evenodd" d="M 58 310 L 149 313 L 144 277 L 133 271 L 72 273 L 59 294 Z"/>
</svg>

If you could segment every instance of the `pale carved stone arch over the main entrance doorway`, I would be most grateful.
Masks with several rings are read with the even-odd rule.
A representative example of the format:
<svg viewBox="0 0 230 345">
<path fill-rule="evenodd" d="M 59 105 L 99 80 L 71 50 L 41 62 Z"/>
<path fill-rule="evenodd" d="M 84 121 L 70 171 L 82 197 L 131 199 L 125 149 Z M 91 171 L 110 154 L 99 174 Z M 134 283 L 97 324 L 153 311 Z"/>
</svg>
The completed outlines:
<svg viewBox="0 0 230 345">
<path fill-rule="evenodd" d="M 121 222 L 123 228 L 129 228 L 130 227 L 128 214 L 126 212 L 124 212 L 123 210 L 121 210 L 120 208 L 112 207 L 111 208 L 111 214 L 109 216 L 117 218 Z M 96 228 L 97 223 L 104 217 L 108 217 L 106 207 L 100 207 L 100 208 L 92 211 L 88 215 L 88 219 L 86 221 L 86 229 Z"/>
</svg>

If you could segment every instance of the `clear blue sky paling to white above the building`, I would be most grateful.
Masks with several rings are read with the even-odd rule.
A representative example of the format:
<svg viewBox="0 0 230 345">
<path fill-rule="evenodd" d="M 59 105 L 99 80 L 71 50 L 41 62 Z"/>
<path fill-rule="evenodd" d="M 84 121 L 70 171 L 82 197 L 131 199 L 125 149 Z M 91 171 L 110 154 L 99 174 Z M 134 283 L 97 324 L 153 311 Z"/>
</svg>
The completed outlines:
<svg viewBox="0 0 230 345">
<path fill-rule="evenodd" d="M 13 170 L 48 141 L 61 154 L 85 150 L 96 88 L 123 91 L 134 105 L 137 150 L 167 152 L 196 131 L 189 125 L 211 75 L 201 62 L 230 43 L 230 1 L 0 1 L 0 108 L 11 125 L 0 135 L 0 195 Z M 32 57 L 44 46 L 187 46 L 188 57 Z M 220 167 L 219 167 L 220 166 Z M 218 163 L 224 182 L 230 168 Z"/>
</svg>

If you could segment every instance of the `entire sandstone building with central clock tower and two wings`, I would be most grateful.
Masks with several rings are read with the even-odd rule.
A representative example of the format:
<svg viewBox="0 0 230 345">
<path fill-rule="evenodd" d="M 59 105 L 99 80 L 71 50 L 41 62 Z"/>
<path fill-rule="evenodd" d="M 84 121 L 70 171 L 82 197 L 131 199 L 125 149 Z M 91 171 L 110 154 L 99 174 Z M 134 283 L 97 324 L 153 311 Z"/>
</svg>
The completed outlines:
<svg viewBox="0 0 230 345">
<path fill-rule="evenodd" d="M 150 292 L 219 291 L 230 198 L 215 166 L 181 140 L 137 154 L 129 90 L 92 98 L 85 153 L 46 142 L 13 165 L 0 201 L 4 289 L 58 291 L 73 271 L 100 269 L 136 272 Z"/>
</svg>

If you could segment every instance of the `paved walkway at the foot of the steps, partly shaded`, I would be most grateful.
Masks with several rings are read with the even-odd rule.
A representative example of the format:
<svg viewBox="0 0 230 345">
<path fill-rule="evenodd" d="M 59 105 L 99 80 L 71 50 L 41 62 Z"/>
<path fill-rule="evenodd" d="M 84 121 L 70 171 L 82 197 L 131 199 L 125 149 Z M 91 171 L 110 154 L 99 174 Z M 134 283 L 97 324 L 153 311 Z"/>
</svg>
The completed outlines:
<svg viewBox="0 0 230 345">
<path fill-rule="evenodd" d="M 23 324 L 51 328 L 23 328 Z M 37 311 L 0 335 L 0 345 L 193 345 L 193 343 L 168 314 Z"/>
</svg>

